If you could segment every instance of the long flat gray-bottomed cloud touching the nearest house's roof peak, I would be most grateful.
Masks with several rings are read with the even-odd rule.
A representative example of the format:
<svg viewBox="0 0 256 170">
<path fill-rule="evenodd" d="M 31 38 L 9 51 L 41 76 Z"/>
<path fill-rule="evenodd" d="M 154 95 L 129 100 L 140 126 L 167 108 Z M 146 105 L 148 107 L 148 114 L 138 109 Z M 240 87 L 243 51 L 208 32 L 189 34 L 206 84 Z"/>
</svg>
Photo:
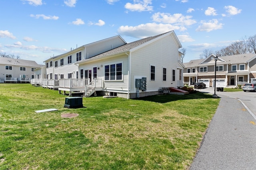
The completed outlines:
<svg viewBox="0 0 256 170">
<path fill-rule="evenodd" d="M 146 38 L 152 35 L 158 35 L 172 30 L 185 30 L 186 28 L 171 24 L 146 23 L 137 26 L 121 26 L 118 33 L 135 38 Z"/>
</svg>

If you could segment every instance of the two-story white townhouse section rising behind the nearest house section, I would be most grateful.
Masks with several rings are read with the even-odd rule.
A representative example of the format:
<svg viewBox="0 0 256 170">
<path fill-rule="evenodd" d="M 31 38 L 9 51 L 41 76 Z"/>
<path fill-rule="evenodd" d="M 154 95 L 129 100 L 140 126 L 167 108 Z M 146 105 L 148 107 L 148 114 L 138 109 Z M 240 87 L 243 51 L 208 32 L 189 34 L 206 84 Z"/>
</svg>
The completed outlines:
<svg viewBox="0 0 256 170">
<path fill-rule="evenodd" d="M 44 61 L 46 66 L 46 80 L 43 80 L 42 86 L 47 88 L 58 88 L 59 79 L 80 78 L 78 66 L 74 63 L 86 60 L 124 44 L 126 44 L 124 39 L 122 39 L 120 35 L 116 35 L 114 37 L 83 45 L 67 53 Z"/>
</svg>

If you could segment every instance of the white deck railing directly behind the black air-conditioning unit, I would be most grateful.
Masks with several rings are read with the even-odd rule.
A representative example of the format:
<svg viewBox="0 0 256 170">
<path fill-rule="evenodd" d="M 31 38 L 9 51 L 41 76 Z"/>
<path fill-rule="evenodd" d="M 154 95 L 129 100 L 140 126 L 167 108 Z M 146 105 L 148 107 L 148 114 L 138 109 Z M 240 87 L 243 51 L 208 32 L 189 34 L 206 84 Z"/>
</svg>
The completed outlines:
<svg viewBox="0 0 256 170">
<path fill-rule="evenodd" d="M 60 79 L 59 87 L 61 88 L 80 88 L 85 87 L 89 82 L 89 79 L 83 78 L 64 78 Z"/>
</svg>

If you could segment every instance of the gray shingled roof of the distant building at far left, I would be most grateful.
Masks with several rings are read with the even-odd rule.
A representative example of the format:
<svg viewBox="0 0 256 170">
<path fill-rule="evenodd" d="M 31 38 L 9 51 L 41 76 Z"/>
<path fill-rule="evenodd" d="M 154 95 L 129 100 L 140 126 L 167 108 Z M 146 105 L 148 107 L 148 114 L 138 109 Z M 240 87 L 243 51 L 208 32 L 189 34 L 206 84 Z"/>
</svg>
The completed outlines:
<svg viewBox="0 0 256 170">
<path fill-rule="evenodd" d="M 28 66 L 28 67 L 34 67 L 34 68 L 38 68 L 41 66 L 41 65 L 37 64 L 35 61 L 12 59 L 12 58 L 6 58 L 6 57 L 0 57 L 0 63 L 3 65 Z"/>
</svg>

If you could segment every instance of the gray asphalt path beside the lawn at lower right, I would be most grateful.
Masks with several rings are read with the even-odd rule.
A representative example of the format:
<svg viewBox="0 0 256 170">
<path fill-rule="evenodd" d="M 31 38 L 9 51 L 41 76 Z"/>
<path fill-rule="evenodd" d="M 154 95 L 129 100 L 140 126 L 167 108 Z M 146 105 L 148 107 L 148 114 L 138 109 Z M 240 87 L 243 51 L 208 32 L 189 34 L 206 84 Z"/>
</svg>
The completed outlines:
<svg viewBox="0 0 256 170">
<path fill-rule="evenodd" d="M 256 170 L 256 120 L 239 100 L 218 96 L 220 104 L 190 170 Z"/>
</svg>

